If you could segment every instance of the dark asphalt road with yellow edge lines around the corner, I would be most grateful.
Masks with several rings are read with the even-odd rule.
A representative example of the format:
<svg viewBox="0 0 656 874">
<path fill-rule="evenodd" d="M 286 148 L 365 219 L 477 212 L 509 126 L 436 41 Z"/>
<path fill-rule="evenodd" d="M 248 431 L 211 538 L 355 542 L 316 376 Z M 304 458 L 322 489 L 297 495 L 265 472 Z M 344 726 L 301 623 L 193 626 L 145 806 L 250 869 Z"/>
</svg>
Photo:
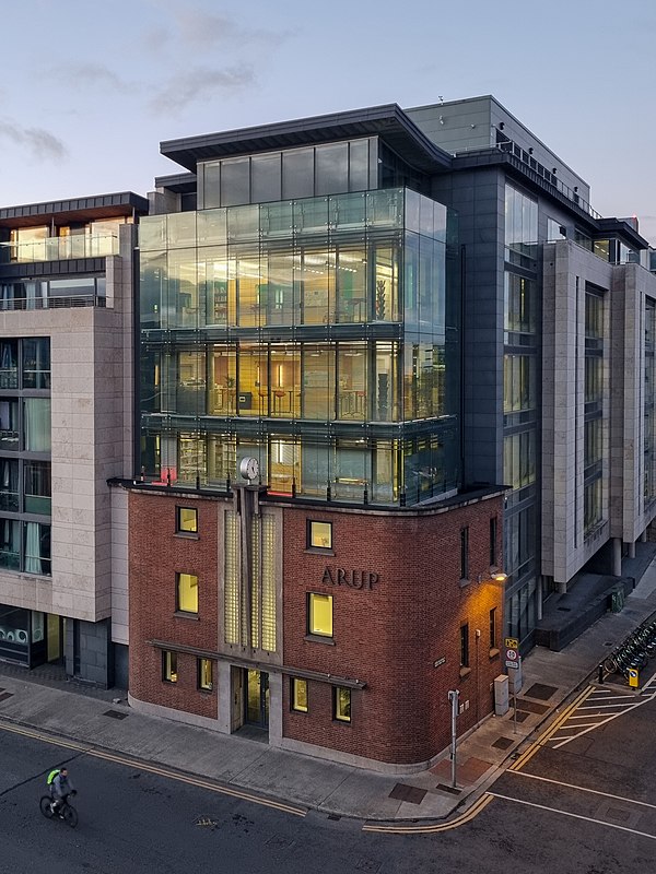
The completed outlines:
<svg viewBox="0 0 656 874">
<path fill-rule="evenodd" d="M 361 822 L 316 812 L 294 815 L 0 723 L 0 872 L 649 872 L 656 859 L 656 700 L 641 700 L 630 709 L 620 705 L 608 719 L 610 699 L 604 705 L 588 696 L 565 721 L 585 721 L 588 731 L 563 734 L 560 727 L 490 787 L 491 803 L 470 823 L 417 835 L 368 834 Z M 590 702 L 604 714 L 596 724 Z M 74 830 L 46 820 L 37 806 L 45 775 L 63 761 L 79 789 Z"/>
</svg>

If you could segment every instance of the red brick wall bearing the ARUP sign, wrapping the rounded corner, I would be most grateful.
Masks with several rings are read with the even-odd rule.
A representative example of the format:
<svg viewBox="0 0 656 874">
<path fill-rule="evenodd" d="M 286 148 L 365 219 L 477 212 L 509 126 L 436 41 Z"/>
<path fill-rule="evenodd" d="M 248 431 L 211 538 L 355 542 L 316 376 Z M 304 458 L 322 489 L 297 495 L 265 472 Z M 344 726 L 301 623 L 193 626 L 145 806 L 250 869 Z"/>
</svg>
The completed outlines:
<svg viewBox="0 0 656 874">
<path fill-rule="evenodd" d="M 461 702 L 469 701 L 458 718 L 459 734 L 491 711 L 490 684 L 501 666 L 499 657 L 490 658 L 489 611 L 497 607 L 501 635 L 502 588 L 476 580 L 489 570 L 490 518 L 495 515 L 501 519 L 501 501 L 492 499 L 411 518 L 285 510 L 284 663 L 367 684 L 352 692 L 352 720 L 343 724 L 332 721 L 330 686 L 311 682 L 308 713 L 298 713 L 290 711 L 285 682 L 285 736 L 383 761 L 413 763 L 449 743 L 449 689 L 459 688 Z M 333 556 L 305 551 L 308 516 L 332 522 Z M 460 587 L 465 525 L 471 582 Z M 374 571 L 379 581 L 372 591 L 326 584 L 326 566 Z M 333 597 L 335 646 L 306 639 L 308 591 Z M 471 672 L 462 678 L 465 622 Z M 476 628 L 481 631 L 478 643 Z M 446 663 L 434 668 L 441 658 Z"/>
</svg>

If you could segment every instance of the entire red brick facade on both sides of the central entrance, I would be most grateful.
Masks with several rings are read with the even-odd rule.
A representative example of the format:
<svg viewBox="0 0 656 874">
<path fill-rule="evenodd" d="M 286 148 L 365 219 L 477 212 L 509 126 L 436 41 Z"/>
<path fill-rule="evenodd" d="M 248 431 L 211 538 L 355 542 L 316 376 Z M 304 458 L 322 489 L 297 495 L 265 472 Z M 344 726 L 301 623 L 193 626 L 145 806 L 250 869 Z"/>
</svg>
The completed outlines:
<svg viewBox="0 0 656 874">
<path fill-rule="evenodd" d="M 197 507 L 198 538 L 175 534 L 176 506 Z M 223 558 L 218 510 L 225 506 L 220 498 L 187 499 L 139 491 L 130 495 L 130 692 L 137 700 L 216 718 L 216 688 L 210 694 L 197 688 L 196 656 L 180 652 L 178 682 L 165 683 L 161 650 L 148 641 L 174 641 L 183 648 L 219 653 L 218 581 Z M 459 735 L 492 711 L 491 686 L 502 672 L 503 587 L 479 583 L 478 578 L 489 576 L 493 517 L 499 519 L 500 556 L 499 495 L 440 511 L 284 507 L 281 743 L 410 765 L 448 746 L 449 689 L 460 689 L 466 708 L 458 719 Z M 307 548 L 308 519 L 332 523 L 330 552 Z M 460 579 L 464 528 L 469 529 L 469 581 Z M 340 569 L 345 572 L 339 574 Z M 198 618 L 175 615 L 176 571 L 199 578 Z M 361 588 L 348 584 L 353 583 L 352 571 Z M 307 634 L 308 592 L 332 595 L 331 640 Z M 491 650 L 493 609 L 496 647 Z M 469 626 L 468 670 L 460 666 L 465 623 Z M 244 660 L 248 661 L 247 652 L 242 664 Z M 254 666 L 267 670 L 261 659 Z M 280 673 L 273 664 L 269 670 Z M 301 676 L 309 672 L 306 713 L 290 707 L 290 677 L 295 672 Z M 319 678 L 312 678 L 314 674 Z M 350 723 L 332 718 L 335 677 L 365 684 L 352 689 Z"/>
</svg>

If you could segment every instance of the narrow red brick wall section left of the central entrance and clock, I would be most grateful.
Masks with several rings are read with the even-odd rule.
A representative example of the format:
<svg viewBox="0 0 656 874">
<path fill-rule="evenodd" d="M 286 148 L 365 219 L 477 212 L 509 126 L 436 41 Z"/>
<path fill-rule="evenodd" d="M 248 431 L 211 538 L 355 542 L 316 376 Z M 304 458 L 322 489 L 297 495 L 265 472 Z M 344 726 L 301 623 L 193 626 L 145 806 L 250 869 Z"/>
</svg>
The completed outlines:
<svg viewBox="0 0 656 874">
<path fill-rule="evenodd" d="M 198 510 L 197 539 L 176 535 L 176 507 Z M 196 657 L 178 654 L 178 681 L 162 681 L 148 640 L 216 651 L 216 507 L 213 500 L 130 494 L 130 690 L 140 700 L 216 718 L 216 692 L 197 688 Z M 176 572 L 198 577 L 198 618 L 175 615 Z M 215 669 L 214 669 L 215 670 Z"/>
</svg>

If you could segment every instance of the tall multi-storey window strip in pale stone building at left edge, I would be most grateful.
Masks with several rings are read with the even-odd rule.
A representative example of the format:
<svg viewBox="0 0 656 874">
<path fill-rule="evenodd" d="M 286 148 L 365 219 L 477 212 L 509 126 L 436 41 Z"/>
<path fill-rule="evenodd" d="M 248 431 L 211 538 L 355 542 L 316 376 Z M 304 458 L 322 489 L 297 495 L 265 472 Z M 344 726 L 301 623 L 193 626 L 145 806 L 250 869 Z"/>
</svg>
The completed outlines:
<svg viewBox="0 0 656 874">
<path fill-rule="evenodd" d="M 0 340 L 0 568 L 50 575 L 50 341 Z"/>
</svg>

